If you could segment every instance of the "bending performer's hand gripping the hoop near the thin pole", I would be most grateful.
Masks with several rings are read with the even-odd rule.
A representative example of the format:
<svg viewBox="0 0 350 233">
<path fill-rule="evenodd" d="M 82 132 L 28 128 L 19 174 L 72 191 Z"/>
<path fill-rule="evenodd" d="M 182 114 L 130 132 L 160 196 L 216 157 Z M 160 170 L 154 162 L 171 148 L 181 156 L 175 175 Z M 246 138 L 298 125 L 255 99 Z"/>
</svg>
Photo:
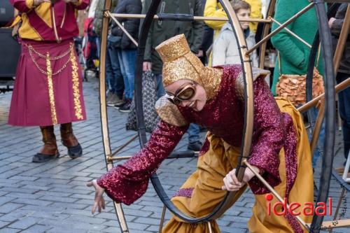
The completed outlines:
<svg viewBox="0 0 350 233">
<path fill-rule="evenodd" d="M 257 172 L 260 172 L 258 167 L 252 166 L 253 169 Z M 244 176 L 241 182 L 238 181 L 236 176 L 236 169 L 233 169 L 230 171 L 225 178 L 223 178 L 223 187 L 222 190 L 228 190 L 228 191 L 238 191 L 240 188 L 242 188 L 248 181 L 251 180 L 255 175 L 253 174 L 253 171 L 251 169 L 246 168 L 244 170 Z"/>
</svg>

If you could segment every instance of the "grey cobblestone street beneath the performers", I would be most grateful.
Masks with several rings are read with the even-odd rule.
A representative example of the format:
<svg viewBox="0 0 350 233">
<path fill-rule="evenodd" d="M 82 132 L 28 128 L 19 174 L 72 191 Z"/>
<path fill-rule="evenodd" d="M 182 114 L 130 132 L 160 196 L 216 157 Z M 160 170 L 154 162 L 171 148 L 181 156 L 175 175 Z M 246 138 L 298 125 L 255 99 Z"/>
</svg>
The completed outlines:
<svg viewBox="0 0 350 233">
<path fill-rule="evenodd" d="M 31 162 L 31 157 L 42 146 L 38 127 L 7 125 L 11 92 L 0 94 L 0 233 L 12 232 L 113 232 L 119 233 L 116 213 L 109 197 L 106 209 L 92 216 L 94 190 L 85 183 L 106 172 L 102 145 L 97 79 L 83 83 L 87 120 L 73 123 L 74 132 L 83 146 L 83 156 L 71 160 L 62 146 L 59 127 L 55 132 L 60 157 L 44 164 Z M 29 103 L 30 104 L 30 103 Z M 125 130 L 127 113 L 109 108 L 109 132 L 112 151 L 136 132 Z M 334 167 L 343 162 L 341 132 L 337 131 Z M 202 133 L 204 136 L 204 133 Z M 178 149 L 186 150 L 187 136 Z M 139 150 L 138 140 L 127 146 L 120 155 L 132 155 Z M 158 170 L 168 195 L 174 195 L 186 178 L 195 171 L 196 159 L 165 160 Z M 318 161 L 316 182 L 319 181 Z M 333 213 L 341 188 L 334 178 L 330 188 Z M 346 202 L 350 203 L 349 194 Z M 246 223 L 251 216 L 255 199 L 250 190 L 218 220 L 222 232 L 248 232 Z M 349 204 L 348 204 L 349 205 Z M 123 205 L 130 233 L 158 232 L 162 203 L 150 183 L 146 195 L 131 206 Z M 342 209 L 340 210 L 342 211 Z M 170 213 L 167 211 L 167 220 Z M 350 218 L 350 210 L 344 218 Z M 330 220 L 330 218 L 326 218 Z M 350 228 L 333 232 L 350 232 Z M 282 232 L 281 232 L 282 233 Z"/>
</svg>

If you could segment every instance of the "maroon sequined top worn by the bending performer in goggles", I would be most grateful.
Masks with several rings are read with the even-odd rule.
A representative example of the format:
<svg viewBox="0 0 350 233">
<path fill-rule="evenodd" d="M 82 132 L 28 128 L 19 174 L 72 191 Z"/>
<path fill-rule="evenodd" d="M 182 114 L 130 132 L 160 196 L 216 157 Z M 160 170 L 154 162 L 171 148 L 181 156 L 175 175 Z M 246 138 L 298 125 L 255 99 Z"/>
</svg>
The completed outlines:
<svg viewBox="0 0 350 233">
<path fill-rule="evenodd" d="M 196 112 L 178 106 L 187 122 L 207 127 L 212 134 L 220 136 L 232 146 L 241 146 L 244 129 L 244 102 L 238 97 L 235 87 L 235 79 L 239 72 L 241 66 L 223 67 L 218 92 L 213 99 L 207 101 L 202 111 Z M 248 162 L 265 171 L 263 177 L 272 186 L 281 182 L 278 154 L 286 138 L 283 120 L 285 118 L 279 111 L 264 78 L 255 80 L 253 144 Z M 105 189 L 111 199 L 132 204 L 144 195 L 148 187 L 148 178 L 174 150 L 187 129 L 188 126 L 177 127 L 160 121 L 150 140 L 139 153 L 123 165 L 111 169 L 99 178 L 97 183 Z M 255 194 L 269 192 L 256 177 L 249 181 L 249 185 Z"/>
</svg>

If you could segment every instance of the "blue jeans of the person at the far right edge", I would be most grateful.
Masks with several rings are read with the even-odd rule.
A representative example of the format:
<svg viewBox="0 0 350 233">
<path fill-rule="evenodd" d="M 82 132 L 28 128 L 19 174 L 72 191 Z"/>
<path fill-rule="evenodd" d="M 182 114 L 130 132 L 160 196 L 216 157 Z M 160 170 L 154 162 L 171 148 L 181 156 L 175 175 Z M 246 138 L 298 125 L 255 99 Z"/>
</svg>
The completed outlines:
<svg viewBox="0 0 350 233">
<path fill-rule="evenodd" d="M 347 73 L 337 73 L 337 83 L 350 77 Z M 347 159 L 350 150 L 350 88 L 339 92 L 339 115 L 342 118 L 342 132 L 344 140 L 344 157 Z"/>
</svg>

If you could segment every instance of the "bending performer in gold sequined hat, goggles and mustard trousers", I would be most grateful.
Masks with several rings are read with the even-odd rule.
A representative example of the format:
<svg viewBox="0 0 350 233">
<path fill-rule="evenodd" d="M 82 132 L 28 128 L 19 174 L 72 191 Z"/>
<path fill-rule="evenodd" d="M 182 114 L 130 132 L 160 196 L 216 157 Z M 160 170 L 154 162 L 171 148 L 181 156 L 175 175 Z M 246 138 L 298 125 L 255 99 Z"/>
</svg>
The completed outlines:
<svg viewBox="0 0 350 233">
<path fill-rule="evenodd" d="M 207 139 L 200 151 L 197 171 L 176 192 L 172 202 L 183 213 L 200 218 L 213 211 L 225 190 L 238 190 L 237 200 L 248 183 L 256 199 L 248 221 L 250 232 L 304 232 L 289 214 L 267 214 L 265 195 L 269 191 L 249 169 L 241 183 L 235 176 L 244 129 L 241 66 L 204 67 L 190 52 L 183 35 L 170 38 L 156 49 L 165 64 L 163 83 L 168 92 L 156 104 L 162 120 L 139 153 L 87 184 L 96 188 L 93 212 L 104 206 L 104 191 L 114 201 L 125 204 L 132 204 L 144 195 L 148 178 L 174 150 L 188 124 L 195 122 L 207 127 Z M 288 202 L 300 203 L 295 211 L 301 211 L 305 202 L 313 201 L 307 134 L 300 114 L 290 102 L 272 97 L 264 79 L 267 74 L 268 71 L 253 70 L 254 132 L 248 162 L 279 195 L 288 198 Z M 270 203 L 275 202 L 276 198 Z M 300 217 L 311 221 L 310 216 Z M 215 221 L 211 225 L 214 232 L 220 232 Z M 162 232 L 209 233 L 209 228 L 207 224 L 184 223 L 173 217 Z"/>
</svg>

